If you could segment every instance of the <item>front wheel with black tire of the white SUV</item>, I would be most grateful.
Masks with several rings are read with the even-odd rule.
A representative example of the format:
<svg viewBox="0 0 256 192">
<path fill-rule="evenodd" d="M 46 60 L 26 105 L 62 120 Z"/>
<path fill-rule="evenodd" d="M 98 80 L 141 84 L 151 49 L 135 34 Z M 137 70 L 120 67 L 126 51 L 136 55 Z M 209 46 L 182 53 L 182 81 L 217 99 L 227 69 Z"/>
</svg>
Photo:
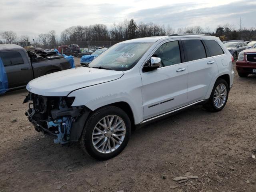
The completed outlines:
<svg viewBox="0 0 256 192">
<path fill-rule="evenodd" d="M 106 106 L 88 118 L 80 144 L 93 158 L 107 160 L 126 147 L 130 134 L 131 122 L 128 115 L 116 106 Z"/>
</svg>

